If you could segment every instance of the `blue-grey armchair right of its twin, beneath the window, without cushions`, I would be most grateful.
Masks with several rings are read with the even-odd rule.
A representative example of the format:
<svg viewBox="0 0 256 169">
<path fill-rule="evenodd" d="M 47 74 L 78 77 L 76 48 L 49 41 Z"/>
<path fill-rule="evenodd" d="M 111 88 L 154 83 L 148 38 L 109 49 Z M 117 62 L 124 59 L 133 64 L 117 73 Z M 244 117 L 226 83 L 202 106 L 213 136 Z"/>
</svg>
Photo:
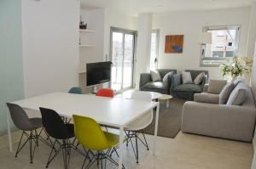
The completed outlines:
<svg viewBox="0 0 256 169">
<path fill-rule="evenodd" d="M 203 91 L 203 87 L 207 82 L 208 79 L 208 71 L 207 70 L 185 70 L 189 71 L 192 77 L 192 81 L 194 82 L 195 77 L 198 76 L 201 72 L 205 73 L 205 77 L 203 81 L 199 84 L 183 84 L 182 82 L 182 75 L 177 74 L 172 76 L 172 86 L 171 86 L 171 93 L 172 96 L 182 99 L 194 99 L 195 93 L 201 93 Z"/>
</svg>

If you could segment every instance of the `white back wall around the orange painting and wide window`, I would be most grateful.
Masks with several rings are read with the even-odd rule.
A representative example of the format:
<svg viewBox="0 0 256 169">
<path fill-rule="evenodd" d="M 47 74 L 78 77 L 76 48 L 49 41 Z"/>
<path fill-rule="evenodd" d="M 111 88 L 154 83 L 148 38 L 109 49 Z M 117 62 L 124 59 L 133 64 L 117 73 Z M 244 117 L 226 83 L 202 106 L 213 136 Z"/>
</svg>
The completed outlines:
<svg viewBox="0 0 256 169">
<path fill-rule="evenodd" d="M 201 47 L 197 43 L 202 27 L 207 25 L 241 25 L 239 55 L 247 49 L 247 25 L 250 8 L 155 14 L 153 29 L 160 29 L 159 68 L 209 70 L 211 78 L 220 78 L 219 68 L 200 67 Z M 165 54 L 166 35 L 184 35 L 183 54 Z"/>
</svg>

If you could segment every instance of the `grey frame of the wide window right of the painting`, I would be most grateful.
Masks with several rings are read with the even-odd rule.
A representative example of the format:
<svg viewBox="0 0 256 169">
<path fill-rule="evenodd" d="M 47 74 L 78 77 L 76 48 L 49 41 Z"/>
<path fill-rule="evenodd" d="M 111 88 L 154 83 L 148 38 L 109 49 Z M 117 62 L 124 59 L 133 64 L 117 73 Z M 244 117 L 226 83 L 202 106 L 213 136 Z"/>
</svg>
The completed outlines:
<svg viewBox="0 0 256 169">
<path fill-rule="evenodd" d="M 214 26 L 203 26 L 202 32 L 207 31 L 218 31 L 218 30 L 237 30 L 236 33 L 236 51 L 233 55 L 233 57 L 237 56 L 238 50 L 239 50 L 239 43 L 240 43 L 240 34 L 241 34 L 241 25 L 214 25 Z M 203 51 L 204 50 L 204 54 Z M 200 52 L 200 66 L 201 67 L 218 67 L 219 65 L 205 65 L 203 63 L 203 60 L 224 60 L 224 61 L 230 61 L 233 59 L 233 57 L 229 58 L 210 58 L 205 57 L 206 54 L 206 44 L 201 43 L 201 52 Z"/>
</svg>

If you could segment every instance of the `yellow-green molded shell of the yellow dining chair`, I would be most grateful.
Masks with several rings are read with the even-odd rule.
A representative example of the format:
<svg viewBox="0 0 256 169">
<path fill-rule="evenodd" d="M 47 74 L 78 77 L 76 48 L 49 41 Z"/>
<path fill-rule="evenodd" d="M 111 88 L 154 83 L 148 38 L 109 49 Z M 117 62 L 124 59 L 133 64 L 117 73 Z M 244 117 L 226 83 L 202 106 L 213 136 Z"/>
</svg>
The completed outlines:
<svg viewBox="0 0 256 169">
<path fill-rule="evenodd" d="M 111 146 L 100 125 L 90 117 L 73 115 L 74 132 L 79 143 L 88 149 L 102 150 Z"/>
</svg>

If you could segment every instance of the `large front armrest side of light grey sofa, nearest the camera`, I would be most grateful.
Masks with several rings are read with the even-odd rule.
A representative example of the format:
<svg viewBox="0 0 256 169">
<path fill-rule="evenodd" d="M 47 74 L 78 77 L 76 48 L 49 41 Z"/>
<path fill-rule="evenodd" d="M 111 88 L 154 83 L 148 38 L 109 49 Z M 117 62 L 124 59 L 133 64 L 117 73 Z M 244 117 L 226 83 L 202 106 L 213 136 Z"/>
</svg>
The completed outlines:
<svg viewBox="0 0 256 169">
<path fill-rule="evenodd" d="M 183 132 L 251 142 L 254 125 L 254 107 L 190 101 L 183 105 Z"/>
</svg>

